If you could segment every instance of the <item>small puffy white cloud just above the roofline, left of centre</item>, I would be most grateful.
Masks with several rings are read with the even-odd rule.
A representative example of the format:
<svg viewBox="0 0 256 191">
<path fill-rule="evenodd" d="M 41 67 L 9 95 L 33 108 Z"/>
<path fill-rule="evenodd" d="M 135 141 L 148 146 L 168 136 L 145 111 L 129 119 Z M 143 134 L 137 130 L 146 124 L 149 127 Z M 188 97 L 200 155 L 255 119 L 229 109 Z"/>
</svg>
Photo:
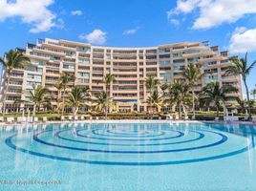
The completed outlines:
<svg viewBox="0 0 256 191">
<path fill-rule="evenodd" d="M 94 30 L 88 34 L 81 34 L 79 38 L 82 40 L 87 40 L 91 44 L 102 45 L 107 41 L 107 32 Z"/>
</svg>

